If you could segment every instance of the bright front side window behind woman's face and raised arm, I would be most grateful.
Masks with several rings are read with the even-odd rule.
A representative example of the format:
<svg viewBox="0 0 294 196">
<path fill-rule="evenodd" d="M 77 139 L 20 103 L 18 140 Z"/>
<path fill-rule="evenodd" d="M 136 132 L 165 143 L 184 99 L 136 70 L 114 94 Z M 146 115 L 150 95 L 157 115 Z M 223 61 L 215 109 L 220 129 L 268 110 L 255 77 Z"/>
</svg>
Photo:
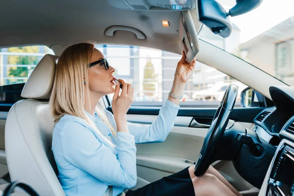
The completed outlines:
<svg viewBox="0 0 294 196">
<path fill-rule="evenodd" d="M 177 62 L 181 56 L 167 51 L 142 47 L 98 45 L 96 46 L 116 69 L 114 75 L 135 89 L 135 106 L 160 106 L 168 98 L 172 88 Z M 193 76 L 186 83 L 182 107 L 217 107 L 229 84 L 239 88 L 236 106 L 240 106 L 241 82 L 197 62 Z M 113 95 L 108 98 L 111 101 Z"/>
</svg>

